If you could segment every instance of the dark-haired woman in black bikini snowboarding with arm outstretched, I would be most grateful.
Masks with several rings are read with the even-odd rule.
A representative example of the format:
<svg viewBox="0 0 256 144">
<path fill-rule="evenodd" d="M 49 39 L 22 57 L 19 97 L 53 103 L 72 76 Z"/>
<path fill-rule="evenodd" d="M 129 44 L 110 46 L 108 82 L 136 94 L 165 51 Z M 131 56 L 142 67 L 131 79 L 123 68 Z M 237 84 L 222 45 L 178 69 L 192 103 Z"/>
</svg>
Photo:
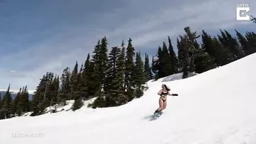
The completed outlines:
<svg viewBox="0 0 256 144">
<path fill-rule="evenodd" d="M 158 91 L 158 95 L 160 95 L 159 98 L 159 107 L 157 110 L 155 110 L 154 114 L 162 114 L 162 110 L 165 110 L 167 103 L 166 103 L 166 97 L 168 95 L 172 95 L 172 96 L 178 96 L 178 94 L 170 94 L 169 93 L 170 88 L 168 88 L 165 84 L 162 84 L 162 89 L 160 91 Z"/>
</svg>

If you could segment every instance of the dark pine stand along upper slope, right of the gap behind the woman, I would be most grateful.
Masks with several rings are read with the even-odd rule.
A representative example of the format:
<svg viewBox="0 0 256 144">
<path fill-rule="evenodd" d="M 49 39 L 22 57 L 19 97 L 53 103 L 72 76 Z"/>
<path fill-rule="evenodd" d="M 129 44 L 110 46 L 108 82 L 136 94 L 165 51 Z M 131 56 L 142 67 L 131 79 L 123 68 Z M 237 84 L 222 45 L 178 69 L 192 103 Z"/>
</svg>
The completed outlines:
<svg viewBox="0 0 256 144">
<path fill-rule="evenodd" d="M 220 30 L 220 34 L 214 37 L 205 30 L 200 35 L 191 32 L 190 27 L 185 27 L 184 32 L 177 38 L 178 56 L 175 56 L 169 37 L 168 46 L 163 42 L 158 47 L 156 58 L 152 59 L 152 71 L 156 78 L 178 72 L 183 72 L 183 78 L 187 78 L 190 72 L 206 72 L 256 52 L 254 32 L 243 36 L 235 30 L 236 37 L 232 37 L 227 30 Z M 198 38 L 201 38 L 201 43 L 198 43 Z"/>
</svg>

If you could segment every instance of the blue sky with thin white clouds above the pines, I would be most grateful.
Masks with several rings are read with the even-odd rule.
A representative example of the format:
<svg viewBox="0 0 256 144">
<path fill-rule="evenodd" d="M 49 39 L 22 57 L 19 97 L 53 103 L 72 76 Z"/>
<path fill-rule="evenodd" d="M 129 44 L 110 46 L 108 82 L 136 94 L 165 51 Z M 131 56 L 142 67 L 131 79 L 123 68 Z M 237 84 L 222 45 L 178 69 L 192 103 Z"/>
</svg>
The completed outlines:
<svg viewBox="0 0 256 144">
<path fill-rule="evenodd" d="M 198 34 L 255 30 L 235 20 L 238 3 L 256 15 L 253 0 L 0 0 L 0 88 L 34 90 L 46 72 L 85 62 L 102 37 L 108 48 L 132 38 L 136 52 L 151 58 L 168 36 L 175 47 L 187 26 Z"/>
</svg>

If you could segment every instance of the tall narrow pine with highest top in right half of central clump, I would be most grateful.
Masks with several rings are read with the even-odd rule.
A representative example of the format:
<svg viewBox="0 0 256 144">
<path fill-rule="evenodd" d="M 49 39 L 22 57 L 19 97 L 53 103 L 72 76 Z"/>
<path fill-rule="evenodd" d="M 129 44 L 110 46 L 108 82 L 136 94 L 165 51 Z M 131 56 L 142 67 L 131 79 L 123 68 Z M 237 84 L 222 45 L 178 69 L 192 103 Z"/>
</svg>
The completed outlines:
<svg viewBox="0 0 256 144">
<path fill-rule="evenodd" d="M 132 39 L 128 40 L 128 46 L 126 48 L 126 61 L 125 61 L 125 85 L 126 85 L 126 92 L 129 97 L 129 101 L 133 100 L 133 92 L 134 92 L 134 61 L 133 56 L 135 56 L 134 47 L 132 44 Z"/>
</svg>

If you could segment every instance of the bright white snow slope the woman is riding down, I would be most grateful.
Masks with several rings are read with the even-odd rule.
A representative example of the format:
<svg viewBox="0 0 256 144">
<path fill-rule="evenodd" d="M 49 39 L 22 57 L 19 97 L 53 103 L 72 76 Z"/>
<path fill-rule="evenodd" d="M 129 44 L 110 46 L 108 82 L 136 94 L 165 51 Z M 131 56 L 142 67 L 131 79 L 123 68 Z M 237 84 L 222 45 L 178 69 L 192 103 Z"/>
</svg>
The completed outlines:
<svg viewBox="0 0 256 144">
<path fill-rule="evenodd" d="M 1 144 L 255 144 L 256 54 L 190 78 L 165 82 L 171 93 L 158 120 L 162 80 L 120 107 L 82 107 L 0 120 Z M 25 134 L 25 135 L 24 135 Z M 29 134 L 29 136 L 28 136 Z M 34 134 L 34 136 L 32 136 Z"/>
</svg>

